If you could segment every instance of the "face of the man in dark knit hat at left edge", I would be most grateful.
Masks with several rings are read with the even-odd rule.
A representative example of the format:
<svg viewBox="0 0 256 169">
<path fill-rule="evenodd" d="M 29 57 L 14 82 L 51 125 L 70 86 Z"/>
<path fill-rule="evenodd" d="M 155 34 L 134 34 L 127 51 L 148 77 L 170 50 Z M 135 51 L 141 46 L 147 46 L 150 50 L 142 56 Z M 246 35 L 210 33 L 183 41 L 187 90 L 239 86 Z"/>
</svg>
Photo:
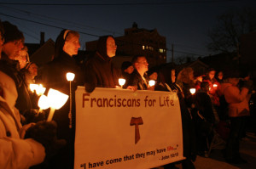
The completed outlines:
<svg viewBox="0 0 256 169">
<path fill-rule="evenodd" d="M 21 39 L 3 44 L 3 52 L 8 55 L 9 59 L 15 59 L 18 57 L 21 48 L 24 48 L 24 44 Z"/>
</svg>

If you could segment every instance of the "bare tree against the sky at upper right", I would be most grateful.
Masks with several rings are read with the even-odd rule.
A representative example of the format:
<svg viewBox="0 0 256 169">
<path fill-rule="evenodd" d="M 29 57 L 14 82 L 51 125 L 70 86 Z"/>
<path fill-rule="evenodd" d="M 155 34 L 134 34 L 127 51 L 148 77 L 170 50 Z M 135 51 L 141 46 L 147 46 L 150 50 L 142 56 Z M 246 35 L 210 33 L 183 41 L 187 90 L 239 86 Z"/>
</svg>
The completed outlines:
<svg viewBox="0 0 256 169">
<path fill-rule="evenodd" d="M 217 19 L 218 25 L 208 33 L 212 42 L 207 48 L 213 52 L 236 52 L 241 35 L 256 31 L 256 12 L 250 8 L 227 11 Z"/>
</svg>

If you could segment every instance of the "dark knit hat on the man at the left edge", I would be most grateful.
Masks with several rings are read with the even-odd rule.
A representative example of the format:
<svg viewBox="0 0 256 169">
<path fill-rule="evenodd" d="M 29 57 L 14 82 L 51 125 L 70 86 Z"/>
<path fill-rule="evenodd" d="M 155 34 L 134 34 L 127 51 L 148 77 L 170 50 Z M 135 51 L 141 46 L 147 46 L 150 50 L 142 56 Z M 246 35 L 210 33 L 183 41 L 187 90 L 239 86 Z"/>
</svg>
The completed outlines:
<svg viewBox="0 0 256 169">
<path fill-rule="evenodd" d="M 22 40 L 24 42 L 23 33 L 18 29 L 16 25 L 12 25 L 9 21 L 3 22 L 4 29 L 4 42 L 11 42 L 15 40 Z"/>
</svg>

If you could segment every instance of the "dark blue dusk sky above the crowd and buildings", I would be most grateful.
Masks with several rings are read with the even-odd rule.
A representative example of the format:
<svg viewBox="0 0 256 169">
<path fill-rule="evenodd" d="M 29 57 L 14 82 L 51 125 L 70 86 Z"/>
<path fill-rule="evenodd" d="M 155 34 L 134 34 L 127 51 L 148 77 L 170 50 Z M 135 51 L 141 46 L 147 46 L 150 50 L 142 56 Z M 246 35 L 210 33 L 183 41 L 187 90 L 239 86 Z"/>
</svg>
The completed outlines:
<svg viewBox="0 0 256 169">
<path fill-rule="evenodd" d="M 214 54 L 207 51 L 207 33 L 217 25 L 217 16 L 242 8 L 256 10 L 256 0 L 0 0 L 0 19 L 17 25 L 30 43 L 39 42 L 40 31 L 45 32 L 46 41 L 55 41 L 61 28 L 79 31 L 80 49 L 99 36 L 122 36 L 136 22 L 138 28 L 157 29 L 166 37 L 166 48 L 174 45 L 177 58 Z"/>
</svg>

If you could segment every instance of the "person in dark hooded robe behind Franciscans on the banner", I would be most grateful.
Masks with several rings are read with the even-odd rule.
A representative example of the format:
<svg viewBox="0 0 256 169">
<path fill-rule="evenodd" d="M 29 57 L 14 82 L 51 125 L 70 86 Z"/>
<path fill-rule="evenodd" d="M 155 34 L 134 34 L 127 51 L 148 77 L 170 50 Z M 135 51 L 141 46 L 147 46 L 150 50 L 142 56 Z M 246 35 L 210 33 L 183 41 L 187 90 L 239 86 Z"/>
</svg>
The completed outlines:
<svg viewBox="0 0 256 169">
<path fill-rule="evenodd" d="M 114 67 L 112 58 L 117 46 L 112 36 L 100 37 L 96 54 L 85 63 L 85 90 L 92 92 L 95 87 L 115 88 L 119 86 L 120 71 Z"/>
</svg>

